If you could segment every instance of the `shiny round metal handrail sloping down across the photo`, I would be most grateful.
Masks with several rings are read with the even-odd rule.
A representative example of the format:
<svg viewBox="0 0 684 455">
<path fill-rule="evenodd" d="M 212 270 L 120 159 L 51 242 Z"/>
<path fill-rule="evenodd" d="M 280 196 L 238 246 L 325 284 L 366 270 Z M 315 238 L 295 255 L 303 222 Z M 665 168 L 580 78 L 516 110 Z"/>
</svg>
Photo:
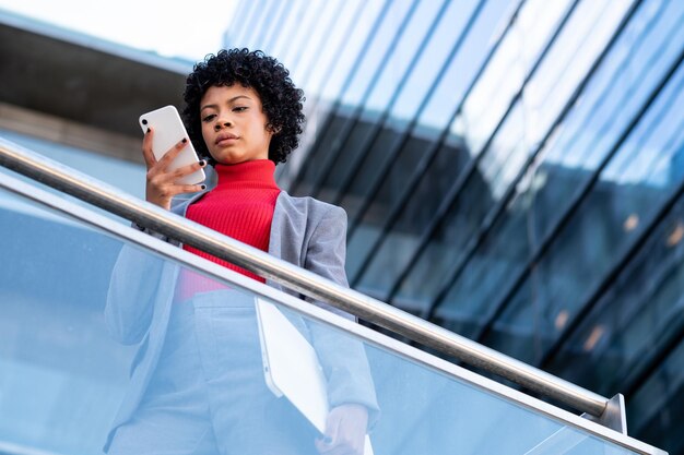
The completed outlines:
<svg viewBox="0 0 684 455">
<path fill-rule="evenodd" d="M 601 395 L 223 236 L 3 137 L 0 137 L 0 165 L 574 409 L 600 418 L 609 408 L 609 399 Z"/>
</svg>

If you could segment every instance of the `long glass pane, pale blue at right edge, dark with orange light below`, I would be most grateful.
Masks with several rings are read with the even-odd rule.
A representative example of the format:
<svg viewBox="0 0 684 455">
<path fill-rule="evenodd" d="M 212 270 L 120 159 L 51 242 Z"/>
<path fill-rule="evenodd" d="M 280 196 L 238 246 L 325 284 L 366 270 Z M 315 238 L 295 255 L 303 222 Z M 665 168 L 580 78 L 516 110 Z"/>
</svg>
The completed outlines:
<svg viewBox="0 0 684 455">
<path fill-rule="evenodd" d="M 611 161 L 578 212 L 538 261 L 530 278 L 532 286 L 519 292 L 522 296 L 502 315 L 502 324 L 524 324 L 529 321 L 526 314 L 531 307 L 543 309 L 544 314 L 538 315 L 536 325 L 539 331 L 547 334 L 542 345 L 547 348 L 561 332 L 555 326 L 557 314 L 564 312 L 568 321 L 576 316 L 613 264 L 648 226 L 673 189 L 681 184 L 668 176 L 652 184 L 653 175 L 662 176 L 662 172 L 658 166 L 647 163 L 652 155 L 660 163 L 676 163 L 675 156 L 684 151 L 681 133 L 684 119 L 677 116 L 683 104 L 684 68 L 681 68 L 616 157 L 632 156 L 624 173 L 639 178 L 626 182 L 613 180 L 613 168 L 622 167 L 623 160 Z M 634 159 L 635 149 L 639 151 L 639 159 Z M 510 344 L 495 346 L 515 356 L 524 352 L 524 347 L 510 350 Z"/>
</svg>

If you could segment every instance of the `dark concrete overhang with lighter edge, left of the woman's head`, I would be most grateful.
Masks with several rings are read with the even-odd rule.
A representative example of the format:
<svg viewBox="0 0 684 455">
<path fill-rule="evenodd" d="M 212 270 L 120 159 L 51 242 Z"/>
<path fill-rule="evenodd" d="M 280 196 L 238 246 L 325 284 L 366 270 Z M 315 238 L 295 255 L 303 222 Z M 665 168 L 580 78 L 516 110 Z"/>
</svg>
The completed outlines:
<svg viewBox="0 0 684 455">
<path fill-rule="evenodd" d="M 140 137 L 138 117 L 179 106 L 191 67 L 0 10 L 0 103 Z"/>
</svg>

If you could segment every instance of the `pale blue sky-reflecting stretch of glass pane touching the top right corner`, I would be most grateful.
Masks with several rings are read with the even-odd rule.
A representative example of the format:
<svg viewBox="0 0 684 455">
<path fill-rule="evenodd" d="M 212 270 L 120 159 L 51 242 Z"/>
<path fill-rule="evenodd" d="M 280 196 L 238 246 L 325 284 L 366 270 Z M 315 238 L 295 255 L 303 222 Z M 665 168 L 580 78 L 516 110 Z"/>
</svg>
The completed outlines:
<svg viewBox="0 0 684 455">
<path fill-rule="evenodd" d="M 639 8 L 563 125 L 549 163 L 585 169 L 599 165 L 680 50 L 681 16 L 681 8 L 671 2 Z"/>
</svg>

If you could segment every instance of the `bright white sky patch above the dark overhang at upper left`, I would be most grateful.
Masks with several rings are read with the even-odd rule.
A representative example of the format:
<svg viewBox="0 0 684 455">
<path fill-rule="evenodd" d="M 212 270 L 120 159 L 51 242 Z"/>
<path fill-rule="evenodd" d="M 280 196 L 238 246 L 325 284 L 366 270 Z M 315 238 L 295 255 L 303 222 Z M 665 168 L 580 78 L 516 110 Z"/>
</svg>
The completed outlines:
<svg viewBox="0 0 684 455">
<path fill-rule="evenodd" d="M 0 0 L 0 9 L 165 57 L 194 61 L 220 49 L 237 3 Z"/>
</svg>

